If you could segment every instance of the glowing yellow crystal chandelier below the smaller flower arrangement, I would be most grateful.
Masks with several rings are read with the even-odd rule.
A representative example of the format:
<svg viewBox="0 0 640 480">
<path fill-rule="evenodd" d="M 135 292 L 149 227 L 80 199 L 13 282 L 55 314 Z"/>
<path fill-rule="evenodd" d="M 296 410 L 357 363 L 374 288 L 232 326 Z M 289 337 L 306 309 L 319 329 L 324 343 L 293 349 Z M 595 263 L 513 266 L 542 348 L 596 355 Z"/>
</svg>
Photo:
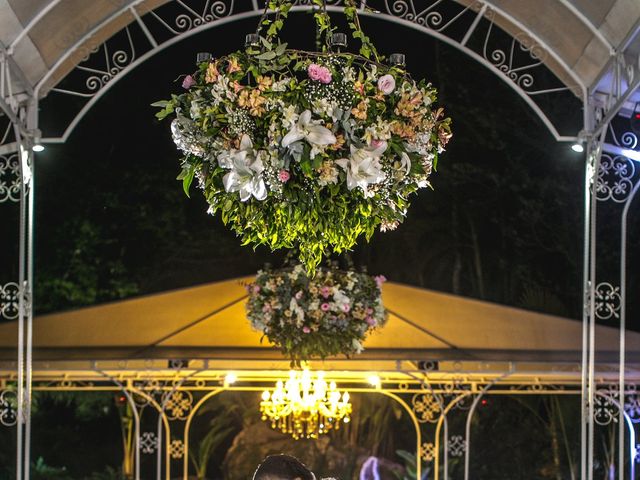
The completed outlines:
<svg viewBox="0 0 640 480">
<path fill-rule="evenodd" d="M 271 421 L 271 428 L 294 439 L 318 438 L 340 423 L 351 420 L 349 393 L 340 392 L 336 382 L 327 384 L 324 372 L 314 375 L 305 368 L 292 370 L 286 382 L 278 380 L 273 390 L 262 392 L 262 420 Z"/>
</svg>

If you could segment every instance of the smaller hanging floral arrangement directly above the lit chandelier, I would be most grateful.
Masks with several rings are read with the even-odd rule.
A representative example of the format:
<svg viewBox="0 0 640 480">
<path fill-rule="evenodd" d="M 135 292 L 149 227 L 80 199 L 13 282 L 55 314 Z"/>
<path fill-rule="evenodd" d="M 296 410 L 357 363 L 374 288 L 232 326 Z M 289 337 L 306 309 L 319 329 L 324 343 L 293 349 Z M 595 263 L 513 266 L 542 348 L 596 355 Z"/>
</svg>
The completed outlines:
<svg viewBox="0 0 640 480">
<path fill-rule="evenodd" d="M 312 357 L 364 350 L 366 336 L 387 320 L 382 275 L 372 277 L 336 265 L 309 277 L 302 265 L 258 272 L 247 285 L 247 317 L 294 364 Z"/>
</svg>

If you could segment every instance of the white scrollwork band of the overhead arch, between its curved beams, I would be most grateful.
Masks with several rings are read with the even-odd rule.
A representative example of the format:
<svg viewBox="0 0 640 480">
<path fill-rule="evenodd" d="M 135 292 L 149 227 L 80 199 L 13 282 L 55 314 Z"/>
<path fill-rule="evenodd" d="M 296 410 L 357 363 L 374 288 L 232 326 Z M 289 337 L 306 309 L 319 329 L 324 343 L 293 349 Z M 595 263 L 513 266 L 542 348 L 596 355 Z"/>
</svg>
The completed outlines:
<svg viewBox="0 0 640 480">
<path fill-rule="evenodd" d="M 296 9 L 311 7 L 309 0 L 297 1 Z M 340 9 L 343 2 L 327 2 L 328 10 Z M 374 6 L 374 5 L 372 5 Z M 47 112 L 58 111 L 60 102 L 68 96 L 78 97 L 79 110 L 68 121 L 56 117 L 55 125 L 47 125 L 45 137 L 66 139 L 84 114 L 93 106 L 111 85 L 157 52 L 177 41 L 203 32 L 217 25 L 247 16 L 259 16 L 263 1 L 238 2 L 234 0 L 195 0 L 184 2 L 173 0 L 144 13 L 135 8 L 126 9 L 135 21 L 125 26 L 103 44 L 84 53 L 86 58 L 63 81 L 50 87 L 51 92 L 43 102 L 43 118 Z M 553 111 L 548 109 L 549 96 L 563 96 L 568 101 L 579 100 L 581 86 L 564 85 L 549 72 L 544 62 L 549 51 L 543 44 L 528 34 L 511 37 L 496 24 L 502 12 L 484 1 L 460 5 L 453 0 L 385 0 L 375 5 L 379 11 L 363 10 L 364 16 L 375 16 L 389 22 L 410 26 L 427 35 L 446 41 L 453 47 L 500 75 L 520 97 L 522 97 L 558 139 L 565 136 L 554 124 Z M 82 29 L 79 25 L 79 30 Z M 52 75 L 52 73 L 50 73 Z M 568 78 L 573 75 L 567 67 Z M 50 76 L 41 84 L 49 85 Z M 47 93 L 42 91 L 42 93 Z M 84 105 L 82 103 L 84 99 Z M 68 103 L 65 102 L 68 107 Z M 62 129 L 60 129 L 62 127 Z M 569 132 L 575 136 L 578 124 Z"/>
</svg>

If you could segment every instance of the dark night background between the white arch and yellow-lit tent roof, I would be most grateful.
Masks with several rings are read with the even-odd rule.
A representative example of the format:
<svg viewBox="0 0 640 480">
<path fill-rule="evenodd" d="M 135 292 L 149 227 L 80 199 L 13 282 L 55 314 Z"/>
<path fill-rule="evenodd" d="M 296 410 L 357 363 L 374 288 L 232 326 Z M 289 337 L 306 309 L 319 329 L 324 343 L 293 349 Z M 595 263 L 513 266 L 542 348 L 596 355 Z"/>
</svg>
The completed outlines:
<svg viewBox="0 0 640 480">
<path fill-rule="evenodd" d="M 294 23 L 285 39 L 311 47 L 309 16 Z M 364 26 L 383 53 L 405 52 L 414 78 L 439 88 L 454 138 L 434 190 L 415 197 L 396 232 L 363 240 L 355 259 L 392 281 L 577 318 L 582 156 L 556 143 L 504 82 L 464 54 L 380 20 Z M 206 215 L 198 192 L 184 196 L 169 123 L 157 122 L 150 106 L 179 90 L 174 80 L 194 69 L 196 52 L 229 53 L 254 28 L 254 19 L 235 22 L 152 57 L 112 86 L 65 145 L 38 155 L 41 311 L 232 278 L 278 261 L 240 247 Z M 564 120 L 572 123 L 579 106 L 570 99 L 557 110 L 571 112 Z M 45 125 L 65 116 L 54 95 L 42 107 Z"/>
</svg>

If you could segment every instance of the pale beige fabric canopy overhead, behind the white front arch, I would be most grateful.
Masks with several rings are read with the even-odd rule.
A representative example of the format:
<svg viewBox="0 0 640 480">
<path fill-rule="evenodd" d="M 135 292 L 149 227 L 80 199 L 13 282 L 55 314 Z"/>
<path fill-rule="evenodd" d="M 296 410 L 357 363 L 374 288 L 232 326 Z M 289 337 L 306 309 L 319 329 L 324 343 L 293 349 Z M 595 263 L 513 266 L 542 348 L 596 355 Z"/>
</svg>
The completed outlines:
<svg viewBox="0 0 640 480">
<path fill-rule="evenodd" d="M 0 0 L 0 42 L 13 51 L 25 77 L 16 88 L 33 88 L 50 73 L 50 79 L 40 85 L 41 93 L 46 94 L 91 49 L 136 21 L 135 15 L 142 16 L 167 1 Z M 393 9 L 400 2 L 386 3 L 393 4 Z M 404 3 L 417 11 L 424 8 L 413 1 Z M 626 50 L 625 43 L 640 26 L 640 2 L 636 0 L 481 3 L 492 8 L 496 24 L 514 37 L 535 37 L 548 47 L 551 54 L 541 60 L 569 86 L 575 80 L 568 78 L 567 69 L 575 72 L 583 86 L 593 86 L 612 52 Z"/>
</svg>

